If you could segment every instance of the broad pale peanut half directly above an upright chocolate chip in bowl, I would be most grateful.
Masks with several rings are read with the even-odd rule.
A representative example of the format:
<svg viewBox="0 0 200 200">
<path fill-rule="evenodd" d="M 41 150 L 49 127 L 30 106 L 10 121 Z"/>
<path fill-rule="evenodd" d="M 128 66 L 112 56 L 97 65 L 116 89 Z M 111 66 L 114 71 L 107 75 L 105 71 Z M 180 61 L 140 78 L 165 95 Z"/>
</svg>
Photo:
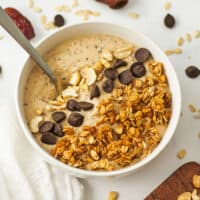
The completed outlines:
<svg viewBox="0 0 200 200">
<path fill-rule="evenodd" d="M 86 79 L 87 85 L 92 85 L 97 79 L 95 70 L 92 67 L 83 68 L 81 75 Z"/>
</svg>

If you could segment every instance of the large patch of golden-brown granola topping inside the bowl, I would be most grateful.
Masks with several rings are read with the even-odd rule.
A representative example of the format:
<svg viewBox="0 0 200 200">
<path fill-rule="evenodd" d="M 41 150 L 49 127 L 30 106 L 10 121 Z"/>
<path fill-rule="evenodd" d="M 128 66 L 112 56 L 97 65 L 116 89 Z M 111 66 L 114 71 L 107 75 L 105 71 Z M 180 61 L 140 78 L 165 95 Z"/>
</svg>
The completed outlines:
<svg viewBox="0 0 200 200">
<path fill-rule="evenodd" d="M 116 170 L 149 155 L 162 139 L 171 116 L 171 93 L 163 64 L 147 63 L 149 73 L 118 85 L 97 105 L 96 126 L 63 127 L 51 154 L 87 170 Z"/>
</svg>

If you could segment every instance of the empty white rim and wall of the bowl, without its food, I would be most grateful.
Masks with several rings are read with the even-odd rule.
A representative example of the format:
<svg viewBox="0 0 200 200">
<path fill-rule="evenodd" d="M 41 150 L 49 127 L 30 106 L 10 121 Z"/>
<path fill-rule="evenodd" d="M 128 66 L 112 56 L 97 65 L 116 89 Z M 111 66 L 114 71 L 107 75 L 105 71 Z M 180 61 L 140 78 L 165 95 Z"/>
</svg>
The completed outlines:
<svg viewBox="0 0 200 200">
<path fill-rule="evenodd" d="M 174 135 L 179 116 L 181 111 L 181 91 L 179 82 L 174 71 L 172 64 L 170 63 L 167 56 L 160 50 L 160 48 L 154 44 L 150 39 L 145 37 L 143 34 L 136 32 L 131 28 L 122 27 L 115 24 L 110 23 L 101 23 L 101 22 L 90 22 L 90 23 L 82 23 L 76 24 L 68 27 L 64 27 L 59 29 L 55 33 L 45 37 L 42 39 L 37 45 L 37 50 L 41 54 L 45 54 L 47 51 L 55 47 L 57 44 L 71 38 L 74 36 L 83 34 L 111 34 L 116 35 L 121 38 L 124 38 L 130 42 L 135 43 L 139 47 L 148 48 L 154 57 L 155 60 L 162 61 L 165 66 L 165 71 L 168 77 L 169 86 L 172 92 L 172 116 L 168 128 L 160 142 L 160 144 L 154 149 L 154 151 L 141 160 L 140 162 L 131 165 L 126 168 L 122 168 L 120 170 L 111 171 L 111 172 L 96 172 L 96 171 L 87 171 L 83 169 L 73 168 L 66 164 L 63 164 L 59 160 L 56 160 L 50 154 L 48 154 L 43 148 L 39 146 L 39 144 L 34 139 L 32 133 L 30 132 L 26 119 L 24 116 L 24 108 L 23 108 L 23 96 L 24 96 L 24 88 L 26 85 L 26 81 L 30 70 L 32 69 L 32 61 L 30 58 L 24 64 L 22 71 L 19 76 L 19 80 L 17 83 L 17 93 L 16 93 L 16 109 L 17 116 L 20 122 L 20 125 L 23 129 L 24 134 L 27 139 L 34 146 L 35 149 L 47 160 L 50 164 L 55 165 L 57 167 L 63 168 L 67 173 L 71 175 L 75 175 L 78 177 L 86 178 L 86 177 L 109 177 L 109 176 L 118 176 L 118 175 L 127 175 L 130 172 L 135 172 L 139 168 L 143 167 L 150 161 L 152 161 L 159 153 L 167 146 L 172 136 Z"/>
</svg>

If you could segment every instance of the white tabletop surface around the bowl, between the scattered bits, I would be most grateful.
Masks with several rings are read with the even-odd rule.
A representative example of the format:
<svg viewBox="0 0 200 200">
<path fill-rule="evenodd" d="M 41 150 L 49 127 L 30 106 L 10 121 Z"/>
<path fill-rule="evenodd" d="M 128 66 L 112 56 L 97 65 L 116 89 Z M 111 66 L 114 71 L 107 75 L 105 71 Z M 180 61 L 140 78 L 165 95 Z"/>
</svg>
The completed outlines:
<svg viewBox="0 0 200 200">
<path fill-rule="evenodd" d="M 163 17 L 166 11 L 163 8 L 165 0 L 129 0 L 126 8 L 114 11 L 93 0 L 79 0 L 80 8 L 92 9 L 101 12 L 101 16 L 90 20 L 118 21 L 120 24 L 132 26 L 138 31 L 145 33 L 163 50 L 172 49 L 177 46 L 177 38 L 188 32 L 200 29 L 200 1 L 199 0 L 171 0 L 172 8 L 169 11 L 177 20 L 174 29 L 169 30 L 163 26 Z M 49 16 L 49 20 L 55 15 L 54 7 L 63 3 L 70 4 L 72 0 L 35 0 L 36 4 L 43 8 L 43 13 Z M 48 3 L 47 3 L 48 2 Z M 13 6 L 22 11 L 31 19 L 34 24 L 36 37 L 32 40 L 36 44 L 44 35 L 45 31 L 39 21 L 40 14 L 34 13 L 26 7 L 26 0 L 0 0 L 0 5 Z M 130 11 L 141 15 L 139 20 L 130 19 L 127 14 Z M 64 14 L 67 24 L 81 22 L 81 18 L 72 13 Z M 16 80 L 19 70 L 23 66 L 27 54 L 19 48 L 14 40 L 0 27 L 0 34 L 4 36 L 0 40 L 0 65 L 3 73 L 0 76 L 0 102 L 6 101 L 14 106 L 14 94 Z M 191 44 L 183 46 L 182 55 L 170 57 L 182 87 L 183 117 L 181 118 L 175 136 L 168 147 L 158 158 L 148 164 L 145 168 L 128 177 L 107 180 L 83 180 L 86 189 L 86 200 L 107 199 L 111 190 L 120 193 L 120 200 L 142 200 L 162 180 L 170 175 L 178 166 L 187 161 L 200 162 L 200 120 L 193 119 L 188 110 L 188 104 L 192 103 L 200 107 L 200 77 L 191 80 L 185 75 L 185 68 L 190 65 L 200 67 L 200 39 L 195 39 Z M 191 59 L 188 57 L 191 56 Z M 1 148 L 1 147 L 0 147 Z M 185 148 L 187 156 L 179 160 L 176 157 L 177 151 Z"/>
</svg>

